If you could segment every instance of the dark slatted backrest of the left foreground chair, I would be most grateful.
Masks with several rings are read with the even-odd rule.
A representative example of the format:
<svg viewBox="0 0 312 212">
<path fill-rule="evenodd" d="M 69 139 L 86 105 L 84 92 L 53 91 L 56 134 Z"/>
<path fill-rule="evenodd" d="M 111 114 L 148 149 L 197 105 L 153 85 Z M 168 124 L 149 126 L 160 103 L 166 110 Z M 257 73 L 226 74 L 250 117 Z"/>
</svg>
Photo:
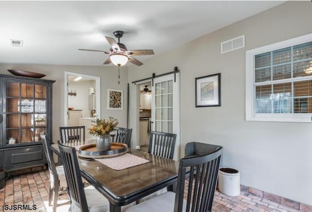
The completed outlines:
<svg viewBox="0 0 312 212">
<path fill-rule="evenodd" d="M 76 149 L 63 146 L 60 142 L 58 143 L 71 204 L 74 204 L 74 207 L 80 208 L 81 212 L 89 212 L 86 195 L 83 190 Z"/>
</svg>

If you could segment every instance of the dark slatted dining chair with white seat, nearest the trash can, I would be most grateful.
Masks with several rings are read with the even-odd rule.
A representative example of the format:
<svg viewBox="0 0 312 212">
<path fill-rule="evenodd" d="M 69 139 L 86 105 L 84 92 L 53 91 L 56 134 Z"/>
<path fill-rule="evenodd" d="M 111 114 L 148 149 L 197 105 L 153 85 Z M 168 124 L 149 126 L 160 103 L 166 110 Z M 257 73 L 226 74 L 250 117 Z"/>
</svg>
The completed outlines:
<svg viewBox="0 0 312 212">
<path fill-rule="evenodd" d="M 211 212 L 221 155 L 219 146 L 207 154 L 180 159 L 176 193 L 165 192 L 126 212 Z M 194 175 L 195 168 L 199 174 Z M 186 179 L 188 170 L 190 177 Z"/>
</svg>

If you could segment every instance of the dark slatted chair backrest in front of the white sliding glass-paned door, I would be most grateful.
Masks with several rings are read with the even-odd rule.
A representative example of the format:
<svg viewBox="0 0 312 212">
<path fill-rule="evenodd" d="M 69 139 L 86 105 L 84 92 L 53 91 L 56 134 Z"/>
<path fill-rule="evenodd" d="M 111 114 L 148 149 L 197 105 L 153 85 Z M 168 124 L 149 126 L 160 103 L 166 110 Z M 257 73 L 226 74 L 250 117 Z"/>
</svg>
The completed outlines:
<svg viewBox="0 0 312 212">
<path fill-rule="evenodd" d="M 150 131 L 148 152 L 165 158 L 174 158 L 176 134 Z"/>
</svg>

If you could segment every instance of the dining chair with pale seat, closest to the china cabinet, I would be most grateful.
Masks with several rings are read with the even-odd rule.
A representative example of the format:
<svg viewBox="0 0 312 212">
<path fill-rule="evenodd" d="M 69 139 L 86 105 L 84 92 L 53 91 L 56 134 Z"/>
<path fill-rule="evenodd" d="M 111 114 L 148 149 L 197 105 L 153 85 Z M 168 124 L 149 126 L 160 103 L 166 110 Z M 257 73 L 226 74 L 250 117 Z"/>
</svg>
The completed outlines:
<svg viewBox="0 0 312 212">
<path fill-rule="evenodd" d="M 51 206 L 53 196 L 53 212 L 56 212 L 59 194 L 65 193 L 65 188 L 67 187 L 64 169 L 63 166 L 55 166 L 53 153 L 50 148 L 49 142 L 47 142 L 46 140 L 45 135 L 40 134 L 40 138 L 42 140 L 42 146 L 44 153 L 47 157 L 48 169 L 50 172 L 49 206 Z M 62 188 L 61 191 L 59 191 L 60 188 Z"/>
</svg>

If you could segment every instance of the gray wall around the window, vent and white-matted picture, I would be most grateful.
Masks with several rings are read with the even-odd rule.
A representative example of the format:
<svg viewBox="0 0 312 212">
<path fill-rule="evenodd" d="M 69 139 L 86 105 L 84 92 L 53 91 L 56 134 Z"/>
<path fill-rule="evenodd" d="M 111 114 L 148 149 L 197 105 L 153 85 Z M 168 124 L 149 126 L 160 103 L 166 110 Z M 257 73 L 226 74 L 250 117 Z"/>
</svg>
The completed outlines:
<svg viewBox="0 0 312 212">
<path fill-rule="evenodd" d="M 310 1 L 289 1 L 129 67 L 130 83 L 181 70 L 181 156 L 191 141 L 221 145 L 222 165 L 240 170 L 241 184 L 312 205 L 312 124 L 245 121 L 246 50 L 312 33 L 311 9 Z M 243 34 L 245 48 L 220 54 L 220 42 Z M 219 72 L 222 106 L 195 108 L 195 78 Z"/>
</svg>

